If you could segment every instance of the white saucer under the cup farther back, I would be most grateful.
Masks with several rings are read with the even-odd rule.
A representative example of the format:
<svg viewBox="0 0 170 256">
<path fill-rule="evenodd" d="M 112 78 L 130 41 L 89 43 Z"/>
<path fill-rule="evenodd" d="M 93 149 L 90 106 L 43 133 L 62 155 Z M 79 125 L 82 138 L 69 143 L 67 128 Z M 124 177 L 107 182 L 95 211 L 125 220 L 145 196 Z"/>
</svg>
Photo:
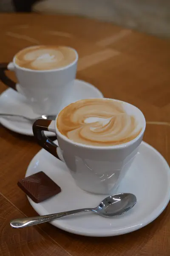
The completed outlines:
<svg viewBox="0 0 170 256">
<path fill-rule="evenodd" d="M 79 99 L 88 98 L 103 98 L 103 95 L 92 84 L 75 79 L 72 94 L 69 95 L 68 100 L 64 103 L 63 107 Z M 27 99 L 13 89 L 7 89 L 0 95 L 0 113 L 14 113 L 17 115 L 26 115 L 31 118 L 37 118 L 37 116 L 40 116 L 32 111 Z M 11 131 L 33 136 L 33 122 L 26 119 L 16 116 L 0 116 L 0 123 Z M 54 133 L 51 132 L 46 132 L 46 134 L 48 136 L 54 136 Z"/>
</svg>

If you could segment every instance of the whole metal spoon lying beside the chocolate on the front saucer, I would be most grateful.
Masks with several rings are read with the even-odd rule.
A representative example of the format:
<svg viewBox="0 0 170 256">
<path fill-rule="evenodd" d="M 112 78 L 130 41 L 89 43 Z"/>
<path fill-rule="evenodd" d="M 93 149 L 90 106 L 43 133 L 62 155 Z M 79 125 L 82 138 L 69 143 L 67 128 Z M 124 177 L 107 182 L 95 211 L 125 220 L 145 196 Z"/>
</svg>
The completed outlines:
<svg viewBox="0 0 170 256">
<path fill-rule="evenodd" d="M 31 218 L 14 219 L 10 221 L 10 225 L 11 227 L 14 228 L 29 227 L 40 223 L 53 221 L 55 219 L 62 218 L 79 212 L 94 212 L 103 217 L 113 217 L 127 212 L 135 204 L 135 195 L 130 193 L 120 193 L 108 196 L 95 208 L 84 208 L 68 212 L 59 212 L 49 215 L 36 216 Z"/>
</svg>

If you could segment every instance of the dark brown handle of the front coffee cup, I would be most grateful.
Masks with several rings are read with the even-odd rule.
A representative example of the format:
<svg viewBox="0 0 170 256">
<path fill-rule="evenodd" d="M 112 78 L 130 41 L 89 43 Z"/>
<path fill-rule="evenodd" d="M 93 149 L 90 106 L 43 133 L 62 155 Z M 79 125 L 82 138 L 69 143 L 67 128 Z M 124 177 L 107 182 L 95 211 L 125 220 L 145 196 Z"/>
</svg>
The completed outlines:
<svg viewBox="0 0 170 256">
<path fill-rule="evenodd" d="M 52 140 L 45 136 L 44 131 L 55 131 L 54 122 L 52 120 L 38 119 L 33 124 L 33 133 L 34 137 L 37 140 L 37 143 L 47 150 L 49 153 L 59 158 L 57 154 L 57 148 L 59 148 Z M 53 127 L 52 127 L 53 126 Z"/>
</svg>

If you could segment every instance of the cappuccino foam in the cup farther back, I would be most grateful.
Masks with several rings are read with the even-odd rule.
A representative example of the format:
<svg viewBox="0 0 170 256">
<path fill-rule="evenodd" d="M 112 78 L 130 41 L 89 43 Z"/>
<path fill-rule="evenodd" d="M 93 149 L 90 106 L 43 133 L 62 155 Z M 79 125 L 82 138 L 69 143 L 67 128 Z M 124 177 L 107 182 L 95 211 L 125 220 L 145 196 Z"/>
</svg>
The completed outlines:
<svg viewBox="0 0 170 256">
<path fill-rule="evenodd" d="M 74 49 L 57 46 L 34 46 L 21 50 L 15 63 L 31 70 L 53 70 L 65 67 L 76 60 Z"/>
</svg>

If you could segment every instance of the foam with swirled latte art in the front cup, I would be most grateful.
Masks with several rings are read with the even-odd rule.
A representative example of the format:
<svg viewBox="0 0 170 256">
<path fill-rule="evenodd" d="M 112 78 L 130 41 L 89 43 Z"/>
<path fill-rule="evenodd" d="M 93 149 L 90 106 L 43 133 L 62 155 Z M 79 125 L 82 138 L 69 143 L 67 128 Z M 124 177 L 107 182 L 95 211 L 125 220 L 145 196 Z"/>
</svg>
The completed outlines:
<svg viewBox="0 0 170 256">
<path fill-rule="evenodd" d="M 61 134 L 86 145 L 119 145 L 133 140 L 142 130 L 121 102 L 85 99 L 64 108 L 57 118 Z"/>
</svg>

